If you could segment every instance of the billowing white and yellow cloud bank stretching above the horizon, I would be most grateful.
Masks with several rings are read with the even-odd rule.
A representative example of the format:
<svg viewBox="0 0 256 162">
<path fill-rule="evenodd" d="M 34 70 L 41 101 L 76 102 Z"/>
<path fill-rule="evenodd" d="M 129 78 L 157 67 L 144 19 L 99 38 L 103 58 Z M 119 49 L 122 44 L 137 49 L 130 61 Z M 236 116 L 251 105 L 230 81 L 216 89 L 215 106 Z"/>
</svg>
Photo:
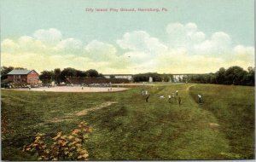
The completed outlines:
<svg viewBox="0 0 256 162">
<path fill-rule="evenodd" d="M 170 23 L 168 40 L 160 41 L 145 31 L 126 32 L 117 44 L 92 40 L 84 44 L 63 38 L 57 29 L 40 29 L 32 36 L 1 42 L 3 66 L 43 70 L 94 68 L 103 73 L 216 72 L 219 67 L 254 67 L 254 48 L 232 45 L 228 33 L 208 37 L 195 23 Z M 121 49 L 118 50 L 116 45 Z M 125 52 L 124 52 L 125 51 Z"/>
</svg>

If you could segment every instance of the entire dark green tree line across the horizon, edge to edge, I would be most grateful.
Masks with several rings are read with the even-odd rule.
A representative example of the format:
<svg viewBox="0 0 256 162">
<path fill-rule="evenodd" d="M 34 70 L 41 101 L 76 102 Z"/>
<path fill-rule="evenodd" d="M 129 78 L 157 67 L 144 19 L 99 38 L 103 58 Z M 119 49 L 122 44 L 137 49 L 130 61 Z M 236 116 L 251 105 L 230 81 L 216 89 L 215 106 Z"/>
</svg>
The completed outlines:
<svg viewBox="0 0 256 162">
<path fill-rule="evenodd" d="M 1 79 L 2 81 L 7 78 L 7 73 L 13 69 L 25 69 L 23 67 L 1 67 Z M 235 84 L 235 85 L 250 85 L 254 86 L 254 73 L 255 67 L 248 67 L 244 70 L 242 67 L 234 66 L 225 69 L 219 68 L 215 73 L 207 74 L 195 74 L 178 78 L 178 82 L 189 82 L 199 84 Z M 39 75 L 39 79 L 42 82 L 50 83 L 55 81 L 56 84 L 66 81 L 66 77 L 90 77 L 90 78 L 104 78 L 102 73 L 97 72 L 95 69 L 87 71 L 80 71 L 72 67 L 64 68 L 62 71 L 60 68 L 55 68 L 52 71 L 43 71 Z M 110 76 L 114 78 L 114 76 Z M 148 82 L 149 78 L 152 78 L 153 82 L 174 82 L 173 75 L 171 74 L 159 74 L 157 72 L 139 73 L 133 75 L 134 82 Z"/>
</svg>

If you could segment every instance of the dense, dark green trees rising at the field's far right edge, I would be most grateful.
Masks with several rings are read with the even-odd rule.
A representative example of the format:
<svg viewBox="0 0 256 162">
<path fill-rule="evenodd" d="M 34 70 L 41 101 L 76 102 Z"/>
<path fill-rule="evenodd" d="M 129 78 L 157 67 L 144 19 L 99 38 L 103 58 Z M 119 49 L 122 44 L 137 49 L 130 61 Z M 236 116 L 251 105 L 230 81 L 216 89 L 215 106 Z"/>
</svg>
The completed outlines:
<svg viewBox="0 0 256 162">
<path fill-rule="evenodd" d="M 225 69 L 221 67 L 218 72 L 209 74 L 198 74 L 184 77 L 183 81 L 201 84 L 235 84 L 254 85 L 255 68 L 248 67 L 247 71 L 241 67 L 234 66 Z"/>
</svg>

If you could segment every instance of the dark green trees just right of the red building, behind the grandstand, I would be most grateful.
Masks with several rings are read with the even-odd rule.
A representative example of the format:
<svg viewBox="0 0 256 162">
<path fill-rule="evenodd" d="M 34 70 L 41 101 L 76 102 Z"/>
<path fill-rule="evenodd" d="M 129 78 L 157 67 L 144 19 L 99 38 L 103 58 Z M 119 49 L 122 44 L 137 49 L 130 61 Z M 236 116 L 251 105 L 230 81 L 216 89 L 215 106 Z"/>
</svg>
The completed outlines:
<svg viewBox="0 0 256 162">
<path fill-rule="evenodd" d="M 66 81 L 66 77 L 90 77 L 90 78 L 104 78 L 102 73 L 97 72 L 95 69 L 87 71 L 80 71 L 71 67 L 64 68 L 62 71 L 60 68 L 55 68 L 53 71 L 43 71 L 39 75 L 39 79 L 44 84 L 55 81 L 56 84 Z"/>
</svg>

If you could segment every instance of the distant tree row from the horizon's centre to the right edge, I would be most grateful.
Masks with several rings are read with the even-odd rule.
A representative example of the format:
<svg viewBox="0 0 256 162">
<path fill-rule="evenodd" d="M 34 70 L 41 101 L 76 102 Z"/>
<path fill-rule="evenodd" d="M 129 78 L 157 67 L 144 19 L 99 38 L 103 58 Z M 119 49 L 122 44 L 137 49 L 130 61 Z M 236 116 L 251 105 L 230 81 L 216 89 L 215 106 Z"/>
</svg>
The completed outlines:
<svg viewBox="0 0 256 162">
<path fill-rule="evenodd" d="M 242 67 L 234 66 L 225 69 L 221 67 L 215 73 L 195 74 L 183 76 L 175 80 L 171 74 L 159 74 L 157 72 L 139 73 L 133 76 L 134 82 L 148 82 L 149 78 L 153 78 L 153 82 L 183 82 L 198 84 L 235 84 L 235 85 L 251 85 L 254 86 L 254 67 L 248 67 L 247 71 Z"/>
</svg>

